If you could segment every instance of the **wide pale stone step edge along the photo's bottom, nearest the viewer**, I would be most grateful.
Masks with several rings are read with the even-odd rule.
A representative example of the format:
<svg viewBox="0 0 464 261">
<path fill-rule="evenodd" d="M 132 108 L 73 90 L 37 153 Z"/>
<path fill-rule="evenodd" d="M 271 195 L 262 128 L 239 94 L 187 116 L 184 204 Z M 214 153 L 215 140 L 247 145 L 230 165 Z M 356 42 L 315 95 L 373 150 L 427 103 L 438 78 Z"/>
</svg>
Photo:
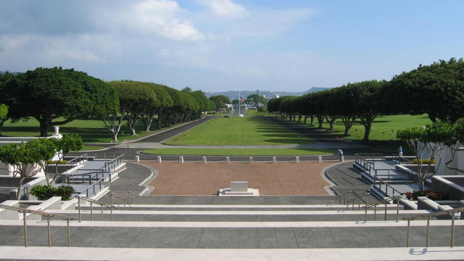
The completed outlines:
<svg viewBox="0 0 464 261">
<path fill-rule="evenodd" d="M 113 261 L 389 261 L 462 260 L 464 247 L 430 248 L 306 248 L 306 249 L 185 249 L 185 248 L 82 248 L 0 247 L 3 259 L 113 260 Z"/>
</svg>

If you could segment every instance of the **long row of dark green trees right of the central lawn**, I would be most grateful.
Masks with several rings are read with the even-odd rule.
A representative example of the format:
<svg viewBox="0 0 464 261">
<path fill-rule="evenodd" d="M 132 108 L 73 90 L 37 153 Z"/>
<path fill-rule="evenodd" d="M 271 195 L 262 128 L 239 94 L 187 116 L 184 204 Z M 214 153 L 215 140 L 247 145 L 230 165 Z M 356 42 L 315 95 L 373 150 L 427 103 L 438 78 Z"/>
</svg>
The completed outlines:
<svg viewBox="0 0 464 261">
<path fill-rule="evenodd" d="M 464 60 L 451 58 L 393 76 L 390 81 L 363 81 L 303 96 L 283 96 L 268 103 L 268 111 L 285 119 L 315 118 L 329 131 L 337 120 L 349 135 L 354 122 L 364 126 L 369 139 L 374 119 L 382 114 L 427 114 L 432 122 L 454 123 L 464 115 Z"/>
</svg>

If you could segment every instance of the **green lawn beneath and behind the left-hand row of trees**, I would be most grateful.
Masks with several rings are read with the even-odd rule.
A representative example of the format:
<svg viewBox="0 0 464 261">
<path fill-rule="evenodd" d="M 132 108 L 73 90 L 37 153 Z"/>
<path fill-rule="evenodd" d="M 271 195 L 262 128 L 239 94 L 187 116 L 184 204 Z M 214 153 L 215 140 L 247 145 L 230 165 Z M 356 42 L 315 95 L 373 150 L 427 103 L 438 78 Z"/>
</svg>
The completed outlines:
<svg viewBox="0 0 464 261">
<path fill-rule="evenodd" d="M 161 127 L 163 125 L 164 123 L 161 124 Z M 75 120 L 59 127 L 60 134 L 78 134 L 85 143 L 108 143 L 111 141 L 111 133 L 101 120 Z M 143 123 L 139 121 L 136 126 L 137 136 L 130 136 L 126 121 L 123 121 L 117 138 L 118 141 L 133 140 L 158 132 L 159 130 L 156 130 L 155 121 L 151 129 L 152 131 L 150 132 L 143 132 Z M 51 128 L 48 134 L 52 135 L 53 133 L 54 130 Z M 3 137 L 39 137 L 39 122 L 35 119 L 16 123 L 7 121 L 2 128 L 2 134 Z"/>
</svg>

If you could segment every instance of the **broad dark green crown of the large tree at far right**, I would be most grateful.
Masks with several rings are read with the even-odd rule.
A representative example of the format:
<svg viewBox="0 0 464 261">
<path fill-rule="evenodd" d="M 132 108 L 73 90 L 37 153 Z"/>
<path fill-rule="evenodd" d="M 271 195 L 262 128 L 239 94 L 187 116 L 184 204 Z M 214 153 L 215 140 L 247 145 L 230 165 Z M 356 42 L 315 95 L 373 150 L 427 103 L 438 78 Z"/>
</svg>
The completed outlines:
<svg viewBox="0 0 464 261">
<path fill-rule="evenodd" d="M 451 58 L 393 76 L 384 90 L 391 112 L 456 122 L 464 112 L 464 60 Z"/>
</svg>

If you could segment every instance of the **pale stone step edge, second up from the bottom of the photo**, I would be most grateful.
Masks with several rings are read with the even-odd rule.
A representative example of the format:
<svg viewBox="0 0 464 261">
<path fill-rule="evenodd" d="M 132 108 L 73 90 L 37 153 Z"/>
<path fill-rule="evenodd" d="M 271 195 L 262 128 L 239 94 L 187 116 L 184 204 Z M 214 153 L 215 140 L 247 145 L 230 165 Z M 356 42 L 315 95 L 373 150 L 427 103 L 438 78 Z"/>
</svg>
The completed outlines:
<svg viewBox="0 0 464 261">
<path fill-rule="evenodd" d="M 464 220 L 455 220 L 463 226 Z M 43 220 L 28 220 L 27 226 L 46 226 Z M 52 226 L 66 226 L 66 221 L 52 220 Z M 426 226 L 427 220 L 411 221 L 411 226 Z M 431 226 L 451 228 L 451 220 L 431 220 Z M 0 220 L 0 226 L 23 226 L 22 220 Z M 299 221 L 299 222 L 177 222 L 177 221 L 70 221 L 71 227 L 127 228 L 320 228 L 320 227 L 405 227 L 407 221 Z"/>
</svg>

